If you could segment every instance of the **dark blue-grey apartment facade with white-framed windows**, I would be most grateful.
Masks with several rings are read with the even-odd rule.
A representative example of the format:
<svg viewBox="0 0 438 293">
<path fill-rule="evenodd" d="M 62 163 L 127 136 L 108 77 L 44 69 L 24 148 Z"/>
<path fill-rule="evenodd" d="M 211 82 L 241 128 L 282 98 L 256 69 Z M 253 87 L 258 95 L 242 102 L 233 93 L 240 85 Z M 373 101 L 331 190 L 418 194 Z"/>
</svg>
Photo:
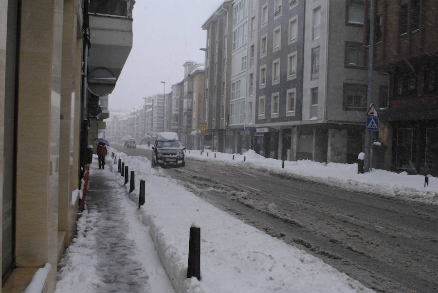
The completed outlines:
<svg viewBox="0 0 438 293">
<path fill-rule="evenodd" d="M 296 159 L 302 119 L 305 1 L 260 0 L 255 150 L 268 158 Z"/>
</svg>

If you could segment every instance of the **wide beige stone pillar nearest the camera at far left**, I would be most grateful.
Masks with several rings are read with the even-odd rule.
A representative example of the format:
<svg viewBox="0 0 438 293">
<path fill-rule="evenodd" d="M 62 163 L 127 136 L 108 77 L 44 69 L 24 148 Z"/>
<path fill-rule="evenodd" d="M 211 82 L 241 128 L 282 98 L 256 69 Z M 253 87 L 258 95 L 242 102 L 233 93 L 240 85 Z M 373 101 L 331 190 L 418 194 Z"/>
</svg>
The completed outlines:
<svg viewBox="0 0 438 293">
<path fill-rule="evenodd" d="M 16 263 L 52 265 L 55 288 L 63 0 L 22 0 L 18 75 Z"/>
</svg>

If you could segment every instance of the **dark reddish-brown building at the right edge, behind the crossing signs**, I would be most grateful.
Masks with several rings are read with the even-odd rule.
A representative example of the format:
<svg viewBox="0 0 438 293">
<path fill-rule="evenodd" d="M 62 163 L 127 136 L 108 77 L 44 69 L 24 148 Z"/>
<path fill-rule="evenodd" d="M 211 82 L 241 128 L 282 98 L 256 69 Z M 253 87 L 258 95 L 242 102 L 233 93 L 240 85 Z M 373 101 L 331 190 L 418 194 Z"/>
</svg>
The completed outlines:
<svg viewBox="0 0 438 293">
<path fill-rule="evenodd" d="M 376 1 L 374 67 L 389 76 L 378 110 L 386 169 L 438 174 L 437 11 L 437 1 Z"/>
</svg>

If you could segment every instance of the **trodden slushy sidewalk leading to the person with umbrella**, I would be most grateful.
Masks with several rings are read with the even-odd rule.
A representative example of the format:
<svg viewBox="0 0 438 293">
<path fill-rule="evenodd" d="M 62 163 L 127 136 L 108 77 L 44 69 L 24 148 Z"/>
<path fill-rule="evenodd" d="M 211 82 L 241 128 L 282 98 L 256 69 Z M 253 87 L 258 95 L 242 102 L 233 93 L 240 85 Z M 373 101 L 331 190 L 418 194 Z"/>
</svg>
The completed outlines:
<svg viewBox="0 0 438 293">
<path fill-rule="evenodd" d="M 148 227 L 110 173 L 111 162 L 99 170 L 96 161 L 90 167 L 87 208 L 60 262 L 56 292 L 174 292 Z"/>
</svg>

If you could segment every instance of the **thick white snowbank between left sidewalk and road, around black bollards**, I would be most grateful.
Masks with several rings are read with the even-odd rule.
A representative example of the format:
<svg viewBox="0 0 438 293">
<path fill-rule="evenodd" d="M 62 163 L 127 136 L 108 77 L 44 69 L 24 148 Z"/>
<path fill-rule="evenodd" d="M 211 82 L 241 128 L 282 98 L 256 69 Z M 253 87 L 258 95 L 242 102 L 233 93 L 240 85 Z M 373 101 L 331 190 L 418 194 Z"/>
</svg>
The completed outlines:
<svg viewBox="0 0 438 293">
<path fill-rule="evenodd" d="M 166 178 L 161 168 L 151 169 L 146 158 L 116 155 L 135 170 L 136 184 L 146 179 L 146 203 L 139 214 L 176 292 L 372 292 L 320 259 L 201 200 Z M 116 165 L 109 171 L 123 186 Z M 134 203 L 138 192 L 136 186 L 128 196 Z M 201 281 L 186 277 L 191 226 L 201 228 Z"/>
</svg>

